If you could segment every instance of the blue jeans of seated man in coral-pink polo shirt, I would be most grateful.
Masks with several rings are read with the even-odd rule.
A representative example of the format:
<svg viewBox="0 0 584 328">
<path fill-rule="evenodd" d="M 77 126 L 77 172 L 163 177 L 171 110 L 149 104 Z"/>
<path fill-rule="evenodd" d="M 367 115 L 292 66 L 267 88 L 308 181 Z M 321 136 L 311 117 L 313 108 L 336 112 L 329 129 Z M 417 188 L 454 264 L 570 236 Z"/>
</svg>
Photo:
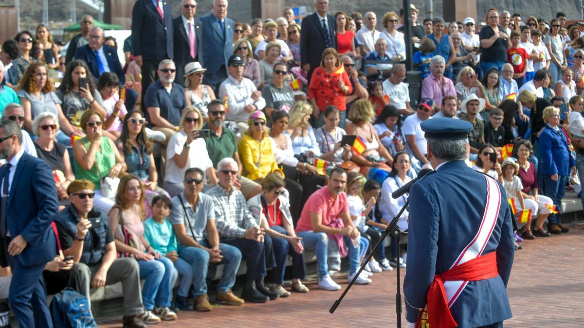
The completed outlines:
<svg viewBox="0 0 584 328">
<path fill-rule="evenodd" d="M 297 234 L 302 237 L 305 249 L 317 250 L 318 278 L 328 275 L 328 236 L 324 232 L 300 231 Z M 349 247 L 349 273 L 356 273 L 359 269 L 360 247 L 354 247 L 349 236 L 343 236 L 345 245 Z"/>
</svg>

